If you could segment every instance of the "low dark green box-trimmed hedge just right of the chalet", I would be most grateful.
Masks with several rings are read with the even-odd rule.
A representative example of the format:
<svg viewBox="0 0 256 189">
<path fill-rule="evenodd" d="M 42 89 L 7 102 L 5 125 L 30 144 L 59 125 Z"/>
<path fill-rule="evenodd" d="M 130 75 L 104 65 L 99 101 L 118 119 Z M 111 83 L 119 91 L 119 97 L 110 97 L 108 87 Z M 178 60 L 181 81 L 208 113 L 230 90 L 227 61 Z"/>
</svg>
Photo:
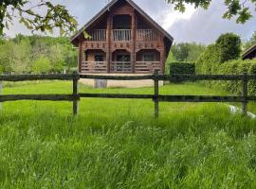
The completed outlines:
<svg viewBox="0 0 256 189">
<path fill-rule="evenodd" d="M 195 65 L 191 62 L 173 62 L 170 64 L 170 74 L 195 74 Z"/>
</svg>

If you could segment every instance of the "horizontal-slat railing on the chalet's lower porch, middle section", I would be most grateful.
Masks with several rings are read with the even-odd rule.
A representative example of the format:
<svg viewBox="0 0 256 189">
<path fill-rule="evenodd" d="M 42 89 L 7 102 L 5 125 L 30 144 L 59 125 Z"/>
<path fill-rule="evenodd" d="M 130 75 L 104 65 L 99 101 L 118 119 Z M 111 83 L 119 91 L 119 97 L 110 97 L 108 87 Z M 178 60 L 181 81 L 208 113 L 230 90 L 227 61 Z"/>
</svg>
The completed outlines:
<svg viewBox="0 0 256 189">
<path fill-rule="evenodd" d="M 132 73 L 131 61 L 111 61 L 110 72 L 111 73 Z"/>
</svg>

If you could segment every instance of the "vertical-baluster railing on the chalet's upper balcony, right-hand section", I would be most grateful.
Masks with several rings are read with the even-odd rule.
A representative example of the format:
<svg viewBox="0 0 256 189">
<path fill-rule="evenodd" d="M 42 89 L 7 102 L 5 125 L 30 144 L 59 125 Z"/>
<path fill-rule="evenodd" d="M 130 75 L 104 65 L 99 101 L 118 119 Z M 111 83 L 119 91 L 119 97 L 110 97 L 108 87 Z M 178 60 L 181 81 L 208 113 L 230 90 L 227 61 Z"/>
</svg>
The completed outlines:
<svg viewBox="0 0 256 189">
<path fill-rule="evenodd" d="M 161 40 L 161 34 L 154 29 L 137 29 L 137 41 L 152 42 Z"/>
</svg>

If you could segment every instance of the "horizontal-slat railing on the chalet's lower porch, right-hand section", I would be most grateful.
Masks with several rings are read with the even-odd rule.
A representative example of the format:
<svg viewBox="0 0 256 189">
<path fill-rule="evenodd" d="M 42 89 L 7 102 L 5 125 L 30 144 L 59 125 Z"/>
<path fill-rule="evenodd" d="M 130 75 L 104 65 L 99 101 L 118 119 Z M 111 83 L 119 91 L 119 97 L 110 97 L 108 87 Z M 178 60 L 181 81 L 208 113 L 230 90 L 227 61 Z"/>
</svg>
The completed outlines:
<svg viewBox="0 0 256 189">
<path fill-rule="evenodd" d="M 161 69 L 160 61 L 136 61 L 135 72 L 137 74 L 150 74 Z"/>
</svg>

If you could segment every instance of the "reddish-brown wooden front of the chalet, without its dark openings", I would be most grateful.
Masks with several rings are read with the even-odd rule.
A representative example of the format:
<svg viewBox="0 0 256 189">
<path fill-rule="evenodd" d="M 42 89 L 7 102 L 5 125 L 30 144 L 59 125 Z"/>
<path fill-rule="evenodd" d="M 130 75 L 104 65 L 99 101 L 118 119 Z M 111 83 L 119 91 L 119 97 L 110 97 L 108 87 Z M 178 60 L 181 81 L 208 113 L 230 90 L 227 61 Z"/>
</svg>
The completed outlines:
<svg viewBox="0 0 256 189">
<path fill-rule="evenodd" d="M 119 15 L 131 16 L 131 29 L 113 29 L 113 18 Z M 139 25 L 137 22 L 139 19 Z M 143 17 L 128 3 L 116 5 L 110 9 L 109 13 L 103 19 L 105 25 L 90 28 L 90 39 L 83 39 L 81 43 L 80 72 L 89 73 L 143 73 L 153 74 L 155 70 L 164 72 L 166 61 L 166 45 L 164 36 L 154 26 L 148 22 L 141 28 Z M 97 29 L 96 29 L 97 28 Z M 101 28 L 101 29 L 98 29 Z M 139 28 L 139 29 L 138 29 Z M 85 60 L 85 50 L 102 50 L 105 53 L 103 68 L 99 69 L 94 60 L 94 53 L 87 54 Z M 130 54 L 130 62 L 117 62 L 115 52 L 124 50 Z M 141 50 L 155 50 L 157 59 L 152 62 L 145 62 L 137 57 L 142 56 Z M 129 67 L 130 66 L 130 67 Z"/>
</svg>

